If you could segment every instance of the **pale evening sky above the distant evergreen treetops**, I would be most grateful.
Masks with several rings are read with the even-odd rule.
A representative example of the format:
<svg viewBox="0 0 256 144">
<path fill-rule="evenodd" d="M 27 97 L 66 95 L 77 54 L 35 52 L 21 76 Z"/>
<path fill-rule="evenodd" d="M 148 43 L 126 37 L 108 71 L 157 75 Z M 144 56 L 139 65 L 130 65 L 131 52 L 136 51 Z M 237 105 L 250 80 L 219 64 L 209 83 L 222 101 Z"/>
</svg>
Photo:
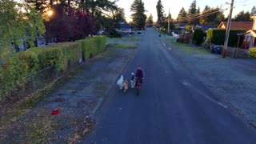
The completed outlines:
<svg viewBox="0 0 256 144">
<path fill-rule="evenodd" d="M 170 9 L 170 14 L 172 18 L 176 19 L 178 16 L 179 11 L 184 7 L 184 9 L 187 11 L 190 7 L 190 4 L 193 0 L 162 0 L 162 6 L 164 7 L 165 14 L 168 14 L 168 11 Z M 116 2 L 119 7 L 125 9 L 126 13 L 126 21 L 130 22 L 130 5 L 134 2 L 134 0 L 118 0 Z M 142 0 L 144 2 L 145 9 L 147 10 L 146 15 L 149 16 L 150 14 L 153 15 L 154 21 L 157 19 L 157 10 L 156 10 L 156 5 L 158 0 Z M 210 7 L 216 7 L 216 6 L 222 6 L 222 9 L 230 7 L 230 1 L 226 0 L 197 0 L 197 6 L 200 7 L 200 10 L 205 8 L 206 5 Z M 227 4 L 228 3 L 228 4 Z M 242 6 L 246 5 L 246 6 Z M 255 0 L 234 0 L 234 6 L 237 6 L 233 9 L 233 14 L 234 15 L 238 14 L 242 10 L 251 10 L 253 6 L 256 5 Z M 225 10 L 224 14 L 225 17 L 229 14 L 230 9 Z"/>
</svg>

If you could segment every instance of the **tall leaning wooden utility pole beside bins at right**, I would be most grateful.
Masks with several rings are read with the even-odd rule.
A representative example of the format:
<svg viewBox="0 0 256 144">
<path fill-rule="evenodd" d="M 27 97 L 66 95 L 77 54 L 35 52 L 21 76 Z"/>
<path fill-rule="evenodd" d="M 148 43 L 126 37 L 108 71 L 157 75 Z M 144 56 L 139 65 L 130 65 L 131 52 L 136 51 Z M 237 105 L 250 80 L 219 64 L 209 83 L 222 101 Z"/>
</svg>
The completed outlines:
<svg viewBox="0 0 256 144">
<path fill-rule="evenodd" d="M 231 0 L 230 14 L 229 14 L 228 22 L 227 22 L 226 37 L 225 37 L 225 42 L 224 42 L 224 49 L 222 51 L 222 58 L 226 58 L 227 44 L 229 42 L 229 36 L 230 36 L 230 26 L 231 26 L 233 5 L 234 5 L 234 0 Z"/>
</svg>

